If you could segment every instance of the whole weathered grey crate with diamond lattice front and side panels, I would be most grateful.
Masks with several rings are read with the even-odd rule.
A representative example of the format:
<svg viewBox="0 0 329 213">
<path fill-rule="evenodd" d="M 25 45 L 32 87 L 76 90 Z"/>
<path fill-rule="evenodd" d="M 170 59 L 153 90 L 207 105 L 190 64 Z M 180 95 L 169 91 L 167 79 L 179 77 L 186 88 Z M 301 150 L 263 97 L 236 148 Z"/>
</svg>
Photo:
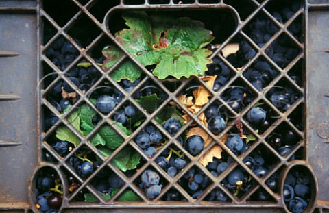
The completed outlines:
<svg viewBox="0 0 329 213">
<path fill-rule="evenodd" d="M 326 71 L 329 41 L 326 39 L 328 32 L 328 2 L 324 0 L 301 0 L 300 8 L 291 15 L 291 17 L 282 23 L 279 23 L 273 17 L 273 11 L 282 8 L 288 1 L 274 0 L 192 0 L 192 1 L 153 1 L 153 0 L 63 0 L 63 1 L 0 1 L 0 16 L 2 24 L 1 51 L 1 138 L 0 138 L 0 156 L 1 156 L 1 198 L 0 210 L 8 212 L 41 212 L 36 208 L 36 182 L 38 175 L 51 169 L 55 171 L 62 183 L 63 201 L 60 212 L 104 212 L 104 211 L 127 211 L 127 212 L 288 212 L 282 198 L 282 187 L 284 178 L 293 168 L 303 168 L 308 171 L 308 175 L 313 177 L 311 181 L 311 198 L 306 212 L 328 212 L 328 175 L 326 174 L 326 155 L 328 148 L 326 146 L 329 138 L 328 134 L 328 114 L 329 110 L 326 105 L 329 97 L 328 86 L 326 86 L 329 77 Z M 289 1 L 291 3 L 291 1 Z M 64 8 L 63 8 L 64 7 Z M 159 80 L 151 74 L 147 68 L 141 66 L 138 61 L 128 53 L 124 47 L 114 38 L 117 30 L 125 27 L 121 14 L 126 11 L 162 11 L 173 16 L 188 16 L 192 19 L 202 21 L 206 28 L 212 30 L 218 42 L 217 50 L 210 58 L 219 58 L 221 62 L 230 70 L 228 82 L 217 92 L 209 89 L 205 82 L 198 77 L 182 78 L 180 80 L 165 79 Z M 249 27 L 258 16 L 265 16 L 269 22 L 278 30 L 273 33 L 263 47 L 250 38 Z M 215 20 L 216 18 L 216 20 Z M 300 23 L 302 26 L 300 37 L 296 38 L 291 34 L 290 28 L 293 23 Z M 47 27 L 45 27 L 47 25 Z M 46 31 L 47 29 L 47 31 Z M 49 31 L 49 32 L 48 32 Z M 48 34 L 49 33 L 49 34 Z M 46 36 L 47 35 L 47 36 Z M 268 47 L 280 38 L 285 36 L 299 52 L 289 62 L 284 65 L 273 62 L 267 55 Z M 73 62 L 68 64 L 63 70 L 56 67 L 47 51 L 59 39 L 69 42 L 77 51 L 77 57 Z M 83 40 L 83 42 L 80 42 Z M 245 40 L 256 55 L 245 60 L 243 66 L 234 67 L 228 58 L 221 54 L 221 51 L 231 43 L 237 43 Z M 109 71 L 101 69 L 97 64 L 94 55 L 100 52 L 101 47 L 106 44 L 117 45 L 123 51 L 123 57 Z M 96 56 L 95 56 L 96 57 Z M 97 83 L 91 86 L 86 93 L 82 92 L 71 82 L 69 72 L 82 60 L 90 63 L 96 68 L 100 77 Z M 258 91 L 255 86 L 247 80 L 245 73 L 248 68 L 254 66 L 258 59 L 268 62 L 276 71 L 273 77 L 262 90 Z M 131 91 L 126 93 L 125 90 L 112 79 L 108 74 L 113 73 L 125 60 L 130 60 L 143 73 L 141 82 Z M 302 80 L 297 84 L 291 77 L 289 71 L 297 73 Z M 55 75 L 53 75 L 55 73 Z M 49 80 L 51 79 L 51 80 Z M 119 103 L 116 109 L 122 108 L 126 103 L 130 103 L 138 108 L 138 112 L 143 114 L 145 121 L 140 129 L 133 131 L 129 136 L 124 134 L 118 127 L 113 125 L 111 120 L 114 111 L 110 114 L 99 114 L 102 125 L 111 125 L 112 129 L 124 140 L 124 142 L 110 155 L 104 158 L 95 146 L 90 143 L 91 138 L 96 134 L 102 125 L 99 125 L 91 131 L 88 136 L 83 136 L 72 123 L 69 121 L 70 116 L 75 110 L 87 104 L 91 109 L 97 111 L 97 108 L 90 101 L 90 91 L 101 86 L 103 81 L 109 82 L 112 89 L 121 91 L 123 102 Z M 47 98 L 49 92 L 53 90 L 57 82 L 65 82 L 73 88 L 79 99 L 74 103 L 74 108 L 68 110 L 65 114 L 60 114 L 56 107 L 51 105 Z M 141 105 L 136 102 L 133 95 L 143 89 L 143 85 L 152 82 L 160 88 L 167 99 L 158 105 L 158 108 L 151 114 L 147 113 Z M 157 126 L 158 131 L 167 138 L 169 142 L 156 153 L 155 157 L 148 158 L 143 150 L 136 145 L 134 137 L 146 127 L 148 123 L 157 124 L 156 115 L 169 105 L 170 101 L 184 108 L 180 103 L 178 96 L 180 92 L 186 90 L 186 87 L 193 83 L 202 85 L 210 93 L 209 103 L 204 105 L 202 110 L 196 115 L 186 110 L 188 116 L 192 119 L 182 126 L 178 134 L 184 134 L 184 131 L 196 122 L 203 131 L 214 140 L 208 145 L 200 155 L 193 156 L 179 144 L 178 136 L 172 136 L 161 125 Z M 241 112 L 233 112 L 229 103 L 223 100 L 223 95 L 231 86 L 243 84 L 255 99 L 248 106 L 255 105 L 259 101 L 267 106 L 269 110 L 276 115 L 271 125 L 261 134 L 256 129 L 248 126 L 245 122 L 249 109 L 244 108 Z M 276 86 L 289 85 L 298 94 L 297 100 L 287 110 L 280 111 L 271 101 L 269 101 L 269 92 Z M 234 119 L 230 120 L 226 129 L 219 136 L 215 136 L 205 127 L 198 116 L 205 112 L 211 103 L 220 103 L 223 108 L 232 111 Z M 57 118 L 55 125 L 45 128 L 45 114 L 53 113 Z M 296 126 L 292 116 L 300 116 L 301 126 Z M 241 155 L 234 155 L 226 145 L 221 143 L 221 136 L 228 131 L 236 128 L 235 121 L 241 121 L 243 127 L 254 136 L 254 141 L 249 149 Z M 69 158 L 73 156 L 69 153 L 67 156 L 60 156 L 57 151 L 49 145 L 49 140 L 56 134 L 60 126 L 66 126 L 77 140 L 81 140 L 80 145 L 74 147 L 73 153 L 79 149 L 89 149 L 101 161 L 100 168 L 90 177 L 82 178 L 77 175 L 75 169 L 70 165 Z M 291 129 L 298 141 L 292 145 L 291 150 L 281 156 L 276 149 L 269 145 L 269 136 L 273 132 L 281 129 Z M 239 127 L 238 127 L 239 129 Z M 278 130 L 279 129 L 279 130 Z M 154 161 L 164 149 L 169 145 L 175 145 L 186 159 L 187 166 L 178 173 L 174 178 L 170 178 L 166 171 L 162 170 Z M 232 158 L 233 163 L 225 173 L 215 177 L 211 175 L 206 167 L 199 164 L 199 158 L 209 151 L 214 145 L 220 145 L 223 152 Z M 112 162 L 115 155 L 123 151 L 125 147 L 130 147 L 137 155 L 141 155 L 143 164 L 138 167 L 138 171 L 131 176 L 126 176 Z M 243 159 L 256 149 L 264 149 L 274 163 L 269 171 L 263 176 L 258 177 L 244 163 Z M 51 156 L 51 161 L 47 161 L 45 155 Z M 295 160 L 291 160 L 295 158 Z M 254 180 L 254 184 L 241 197 L 237 198 L 223 186 L 222 182 L 226 175 L 234 168 L 242 168 Z M 141 173 L 147 168 L 152 168 L 160 174 L 164 182 L 162 191 L 158 197 L 153 200 L 147 199 L 143 191 L 138 187 L 136 181 L 141 179 Z M 186 192 L 180 185 L 180 179 L 187 173 L 190 168 L 198 168 L 210 179 L 210 185 L 204 188 L 199 197 L 193 199 L 191 193 Z M 91 182 L 101 173 L 102 169 L 108 169 L 111 173 L 117 174 L 124 182 L 123 186 L 110 199 L 102 197 L 92 186 Z M 70 184 L 67 179 L 73 175 L 79 186 L 75 190 L 69 190 Z M 278 175 L 279 183 L 276 192 L 267 186 L 266 181 L 273 175 Z M 164 201 L 162 197 L 169 190 L 174 188 L 182 196 L 184 201 Z M 223 190 L 230 201 L 207 201 L 210 192 L 215 188 Z M 86 190 L 98 201 L 85 202 L 77 201 L 80 190 Z M 141 201 L 117 201 L 126 190 L 132 190 Z M 258 190 L 263 190 L 270 197 L 269 201 L 250 200 Z"/>
</svg>

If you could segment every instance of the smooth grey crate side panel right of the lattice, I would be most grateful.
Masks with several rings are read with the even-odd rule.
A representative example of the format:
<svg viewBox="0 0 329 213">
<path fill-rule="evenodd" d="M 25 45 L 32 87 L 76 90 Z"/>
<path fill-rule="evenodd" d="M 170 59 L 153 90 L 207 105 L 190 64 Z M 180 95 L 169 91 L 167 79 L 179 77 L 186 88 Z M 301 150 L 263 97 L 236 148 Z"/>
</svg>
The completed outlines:
<svg viewBox="0 0 329 213">
<path fill-rule="evenodd" d="M 319 134 L 329 122 L 329 10 L 308 12 L 308 40 L 306 48 L 306 101 L 308 109 L 308 162 L 319 182 L 319 199 L 329 200 L 328 160 L 326 135 Z"/>
</svg>

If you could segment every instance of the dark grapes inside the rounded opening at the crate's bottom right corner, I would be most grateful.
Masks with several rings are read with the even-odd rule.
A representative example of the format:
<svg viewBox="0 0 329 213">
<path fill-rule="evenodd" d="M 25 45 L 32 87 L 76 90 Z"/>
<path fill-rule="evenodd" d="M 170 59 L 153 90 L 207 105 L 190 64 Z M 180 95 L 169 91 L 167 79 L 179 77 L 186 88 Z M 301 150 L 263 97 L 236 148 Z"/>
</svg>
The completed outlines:
<svg viewBox="0 0 329 213">
<path fill-rule="evenodd" d="M 295 166 L 289 171 L 282 190 L 284 203 L 293 213 L 304 212 L 311 195 L 311 177 L 304 168 Z"/>
</svg>

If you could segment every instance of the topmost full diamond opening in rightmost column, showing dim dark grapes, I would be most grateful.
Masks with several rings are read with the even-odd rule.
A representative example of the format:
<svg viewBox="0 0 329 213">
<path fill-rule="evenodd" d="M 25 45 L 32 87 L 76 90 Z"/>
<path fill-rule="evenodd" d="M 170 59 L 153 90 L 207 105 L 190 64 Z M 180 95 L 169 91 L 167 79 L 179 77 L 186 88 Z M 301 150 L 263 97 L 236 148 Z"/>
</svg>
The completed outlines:
<svg viewBox="0 0 329 213">
<path fill-rule="evenodd" d="M 271 42 L 271 47 L 273 47 L 273 55 L 269 58 L 280 68 L 285 68 L 302 51 L 285 33 L 280 34 L 276 40 Z"/>
</svg>

